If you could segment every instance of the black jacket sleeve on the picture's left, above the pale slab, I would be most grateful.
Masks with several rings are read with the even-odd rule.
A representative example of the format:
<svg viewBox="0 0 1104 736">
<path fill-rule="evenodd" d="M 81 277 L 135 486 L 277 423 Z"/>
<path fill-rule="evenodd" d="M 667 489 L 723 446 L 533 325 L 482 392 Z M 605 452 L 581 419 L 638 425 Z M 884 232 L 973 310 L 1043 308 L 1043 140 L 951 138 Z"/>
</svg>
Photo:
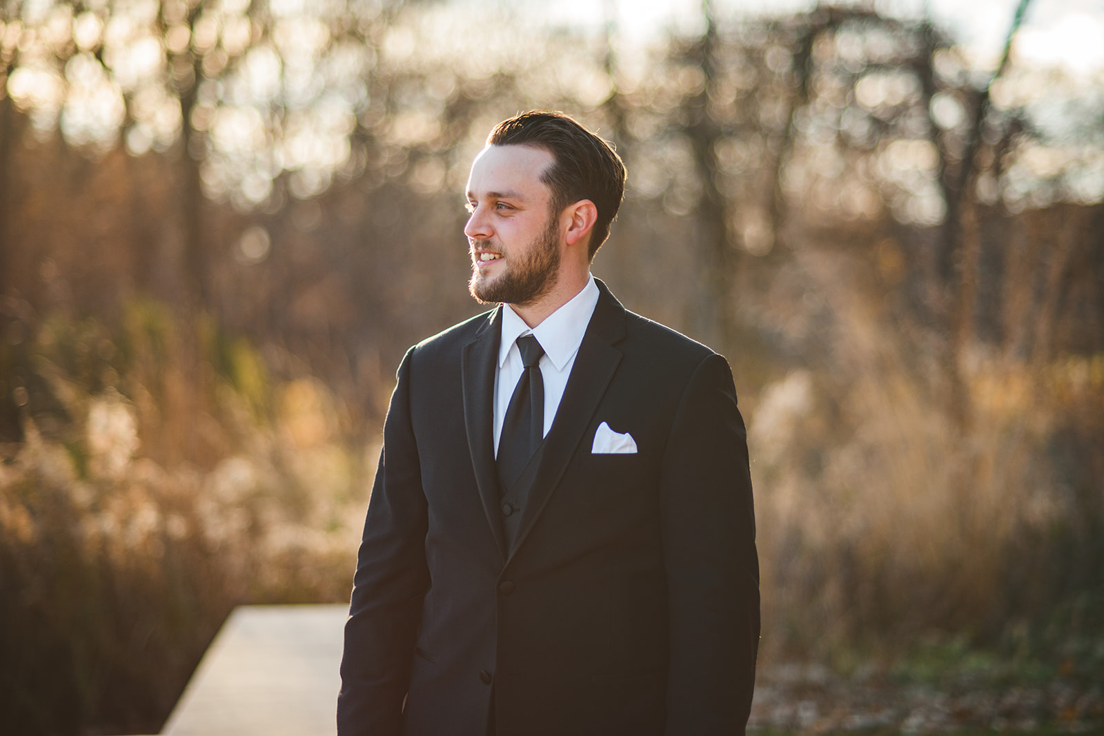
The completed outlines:
<svg viewBox="0 0 1104 736">
<path fill-rule="evenodd" d="M 410 412 L 414 348 L 399 367 L 344 626 L 340 736 L 399 736 L 422 599 L 426 501 Z"/>
</svg>

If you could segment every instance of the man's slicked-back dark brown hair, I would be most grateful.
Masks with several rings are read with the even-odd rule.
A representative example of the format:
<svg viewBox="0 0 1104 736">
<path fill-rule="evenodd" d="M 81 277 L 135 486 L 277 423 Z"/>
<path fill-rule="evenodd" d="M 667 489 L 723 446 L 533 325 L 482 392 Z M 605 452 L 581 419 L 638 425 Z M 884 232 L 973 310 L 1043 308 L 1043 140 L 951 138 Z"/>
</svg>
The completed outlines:
<svg viewBox="0 0 1104 736">
<path fill-rule="evenodd" d="M 590 199 L 598 209 L 588 243 L 593 261 L 609 237 L 609 224 L 625 195 L 625 164 L 613 145 L 552 110 L 532 110 L 503 120 L 490 131 L 487 144 L 529 145 L 552 154 L 553 163 L 541 181 L 552 190 L 553 212 L 580 199 Z"/>
</svg>

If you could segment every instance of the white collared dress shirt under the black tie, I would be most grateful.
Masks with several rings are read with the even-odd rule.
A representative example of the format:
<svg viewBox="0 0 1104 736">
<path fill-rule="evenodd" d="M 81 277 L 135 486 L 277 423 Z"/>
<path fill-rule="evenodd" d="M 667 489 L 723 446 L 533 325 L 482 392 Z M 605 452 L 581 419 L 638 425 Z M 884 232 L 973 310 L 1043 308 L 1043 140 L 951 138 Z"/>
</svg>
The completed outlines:
<svg viewBox="0 0 1104 736">
<path fill-rule="evenodd" d="M 498 346 L 498 370 L 495 372 L 495 456 L 498 457 L 498 440 L 502 434 L 502 420 L 510 405 L 510 397 L 521 379 L 524 365 L 518 338 L 532 333 L 544 348 L 541 356 L 541 377 L 544 379 L 544 434 L 552 427 L 552 420 L 560 408 L 563 390 L 575 365 L 578 346 L 583 343 L 586 325 L 591 324 L 594 307 L 598 304 L 598 286 L 592 275 L 583 290 L 571 301 L 550 314 L 533 329 L 518 316 L 509 304 L 502 305 L 502 339 Z"/>
</svg>

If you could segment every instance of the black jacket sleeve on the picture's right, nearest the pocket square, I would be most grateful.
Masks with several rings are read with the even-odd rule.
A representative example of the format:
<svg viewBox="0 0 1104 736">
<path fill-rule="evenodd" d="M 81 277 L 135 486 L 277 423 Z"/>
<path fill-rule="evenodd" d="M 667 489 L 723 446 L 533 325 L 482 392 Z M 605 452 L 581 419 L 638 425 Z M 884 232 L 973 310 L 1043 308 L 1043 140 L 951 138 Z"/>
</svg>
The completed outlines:
<svg viewBox="0 0 1104 736">
<path fill-rule="evenodd" d="M 728 362 L 688 382 L 664 455 L 668 736 L 743 734 L 760 636 L 758 558 L 747 433 Z"/>
</svg>

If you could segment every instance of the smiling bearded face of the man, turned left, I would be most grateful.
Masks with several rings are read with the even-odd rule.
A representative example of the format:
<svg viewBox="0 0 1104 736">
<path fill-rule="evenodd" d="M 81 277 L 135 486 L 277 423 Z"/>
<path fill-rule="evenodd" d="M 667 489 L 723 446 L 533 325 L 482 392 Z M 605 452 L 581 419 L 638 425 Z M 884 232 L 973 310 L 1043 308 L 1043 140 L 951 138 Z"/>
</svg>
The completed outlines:
<svg viewBox="0 0 1104 736">
<path fill-rule="evenodd" d="M 464 234 L 471 255 L 468 291 L 476 300 L 524 306 L 555 284 L 560 224 L 540 178 L 552 163 L 543 149 L 489 145 L 471 164 Z"/>
</svg>

